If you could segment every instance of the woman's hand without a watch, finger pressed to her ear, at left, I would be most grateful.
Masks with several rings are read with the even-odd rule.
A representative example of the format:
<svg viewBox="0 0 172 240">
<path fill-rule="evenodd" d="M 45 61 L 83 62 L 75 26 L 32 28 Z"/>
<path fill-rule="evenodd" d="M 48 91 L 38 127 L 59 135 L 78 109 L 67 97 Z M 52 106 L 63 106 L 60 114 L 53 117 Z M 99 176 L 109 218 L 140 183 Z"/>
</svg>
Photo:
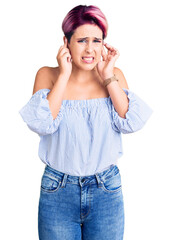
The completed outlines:
<svg viewBox="0 0 172 240">
<path fill-rule="evenodd" d="M 65 74 L 70 77 L 72 72 L 71 54 L 67 47 L 67 38 L 65 37 L 64 45 L 59 48 L 57 54 L 57 62 L 59 64 L 60 74 Z"/>
</svg>

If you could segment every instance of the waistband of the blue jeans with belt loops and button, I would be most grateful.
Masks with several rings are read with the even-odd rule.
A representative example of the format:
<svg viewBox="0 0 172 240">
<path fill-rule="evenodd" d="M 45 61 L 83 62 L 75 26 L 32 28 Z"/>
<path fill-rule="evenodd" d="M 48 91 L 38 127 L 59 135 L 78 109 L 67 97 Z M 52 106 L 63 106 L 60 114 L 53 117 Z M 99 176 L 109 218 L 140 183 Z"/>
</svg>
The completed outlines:
<svg viewBox="0 0 172 240">
<path fill-rule="evenodd" d="M 60 172 L 49 165 L 46 165 L 44 174 L 51 175 L 52 177 L 58 179 L 62 182 L 62 187 L 66 186 L 66 183 L 78 184 L 80 186 L 92 183 L 98 183 L 98 186 L 101 187 L 102 181 L 106 178 L 109 178 L 119 172 L 117 165 L 110 165 L 110 167 L 102 172 L 95 173 L 94 175 L 89 176 L 72 176 L 63 172 Z"/>
</svg>

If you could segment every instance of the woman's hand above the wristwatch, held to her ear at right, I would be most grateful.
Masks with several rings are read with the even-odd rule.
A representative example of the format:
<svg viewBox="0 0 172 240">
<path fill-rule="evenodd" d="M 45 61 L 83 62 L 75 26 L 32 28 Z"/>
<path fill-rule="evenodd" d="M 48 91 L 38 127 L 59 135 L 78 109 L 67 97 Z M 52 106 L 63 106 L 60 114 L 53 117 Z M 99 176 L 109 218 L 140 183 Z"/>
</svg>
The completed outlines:
<svg viewBox="0 0 172 240">
<path fill-rule="evenodd" d="M 100 75 L 100 77 L 102 78 L 102 80 L 105 80 L 107 78 L 110 78 L 114 75 L 114 65 L 115 62 L 117 60 L 117 58 L 119 57 L 119 51 L 110 46 L 107 43 L 103 43 L 103 45 L 107 48 L 108 52 L 106 53 L 104 46 L 102 47 L 102 61 L 100 61 L 97 64 L 97 71 Z"/>
</svg>

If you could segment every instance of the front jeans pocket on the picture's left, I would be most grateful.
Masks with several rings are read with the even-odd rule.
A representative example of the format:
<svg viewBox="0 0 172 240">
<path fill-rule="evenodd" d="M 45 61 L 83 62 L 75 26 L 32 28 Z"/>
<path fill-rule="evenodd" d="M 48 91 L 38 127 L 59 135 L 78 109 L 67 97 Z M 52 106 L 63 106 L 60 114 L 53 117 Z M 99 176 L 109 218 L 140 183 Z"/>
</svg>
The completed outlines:
<svg viewBox="0 0 172 240">
<path fill-rule="evenodd" d="M 48 174 L 44 174 L 41 181 L 41 190 L 44 192 L 55 192 L 60 187 L 60 181 Z"/>
</svg>

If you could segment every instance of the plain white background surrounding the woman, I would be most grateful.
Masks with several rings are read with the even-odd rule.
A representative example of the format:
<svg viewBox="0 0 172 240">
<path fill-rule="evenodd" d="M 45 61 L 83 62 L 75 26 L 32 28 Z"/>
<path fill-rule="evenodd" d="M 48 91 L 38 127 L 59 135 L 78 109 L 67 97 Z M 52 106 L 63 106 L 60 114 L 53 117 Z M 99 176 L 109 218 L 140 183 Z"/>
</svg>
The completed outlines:
<svg viewBox="0 0 172 240">
<path fill-rule="evenodd" d="M 0 239 L 36 240 L 44 164 L 39 137 L 19 110 L 30 99 L 37 70 L 57 66 L 61 23 L 79 4 L 97 5 L 109 23 L 129 85 L 153 109 L 145 127 L 123 135 L 119 160 L 125 202 L 125 240 L 172 239 L 171 5 L 170 1 L 4 1 L 1 38 Z"/>
</svg>

